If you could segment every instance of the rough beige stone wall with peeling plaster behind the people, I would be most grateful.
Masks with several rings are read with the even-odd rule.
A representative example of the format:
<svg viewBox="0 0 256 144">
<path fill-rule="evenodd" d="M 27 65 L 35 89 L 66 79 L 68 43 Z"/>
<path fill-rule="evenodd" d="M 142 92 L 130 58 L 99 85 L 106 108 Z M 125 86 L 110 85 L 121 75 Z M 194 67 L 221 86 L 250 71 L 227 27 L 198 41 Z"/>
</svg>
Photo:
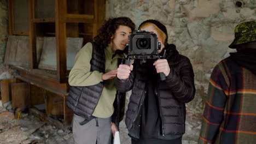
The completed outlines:
<svg viewBox="0 0 256 144">
<path fill-rule="evenodd" d="M 164 23 L 168 43 L 189 57 L 195 73 L 196 95 L 187 104 L 186 133 L 183 143 L 197 143 L 201 115 L 214 66 L 229 56 L 235 26 L 256 20 L 256 1 L 239 0 L 108 0 L 106 18 L 127 16 L 138 26 L 147 19 Z M 129 97 L 127 97 L 129 100 Z"/>
</svg>

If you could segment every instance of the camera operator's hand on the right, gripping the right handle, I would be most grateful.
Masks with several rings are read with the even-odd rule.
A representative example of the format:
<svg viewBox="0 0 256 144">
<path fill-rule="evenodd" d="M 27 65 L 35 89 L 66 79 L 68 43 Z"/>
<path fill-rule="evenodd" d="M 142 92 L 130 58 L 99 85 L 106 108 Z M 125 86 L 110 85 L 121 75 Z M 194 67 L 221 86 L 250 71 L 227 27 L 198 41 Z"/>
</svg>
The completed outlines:
<svg viewBox="0 0 256 144">
<path fill-rule="evenodd" d="M 156 73 L 164 73 L 165 76 L 170 74 L 170 67 L 167 59 L 158 59 L 153 65 L 155 65 Z"/>
</svg>

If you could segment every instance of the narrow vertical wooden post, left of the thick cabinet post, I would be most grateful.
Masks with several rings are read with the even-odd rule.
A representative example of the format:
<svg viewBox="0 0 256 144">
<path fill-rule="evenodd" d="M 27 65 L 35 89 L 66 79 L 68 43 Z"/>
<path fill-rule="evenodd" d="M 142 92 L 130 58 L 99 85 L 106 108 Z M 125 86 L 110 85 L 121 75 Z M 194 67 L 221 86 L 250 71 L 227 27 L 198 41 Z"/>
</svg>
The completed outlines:
<svg viewBox="0 0 256 144">
<path fill-rule="evenodd" d="M 30 69 L 36 69 L 37 64 L 37 38 L 36 27 L 34 25 L 34 0 L 28 0 L 28 14 L 29 14 L 29 26 L 28 33 L 30 35 Z"/>
</svg>

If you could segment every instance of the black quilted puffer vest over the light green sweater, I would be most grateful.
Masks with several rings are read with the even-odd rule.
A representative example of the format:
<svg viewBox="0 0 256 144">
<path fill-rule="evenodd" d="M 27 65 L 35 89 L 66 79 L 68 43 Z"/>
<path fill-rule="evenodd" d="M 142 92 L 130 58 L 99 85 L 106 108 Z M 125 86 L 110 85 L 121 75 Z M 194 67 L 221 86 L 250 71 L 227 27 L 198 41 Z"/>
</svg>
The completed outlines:
<svg viewBox="0 0 256 144">
<path fill-rule="evenodd" d="M 104 48 L 92 43 L 92 58 L 90 71 L 105 73 L 105 52 Z M 119 60 L 120 62 L 120 60 Z M 67 107 L 76 115 L 88 119 L 95 110 L 100 100 L 104 87 L 104 81 L 93 86 L 71 86 L 67 98 Z M 114 113 L 112 122 L 119 125 L 124 116 L 125 93 L 117 92 L 114 100 Z"/>
</svg>

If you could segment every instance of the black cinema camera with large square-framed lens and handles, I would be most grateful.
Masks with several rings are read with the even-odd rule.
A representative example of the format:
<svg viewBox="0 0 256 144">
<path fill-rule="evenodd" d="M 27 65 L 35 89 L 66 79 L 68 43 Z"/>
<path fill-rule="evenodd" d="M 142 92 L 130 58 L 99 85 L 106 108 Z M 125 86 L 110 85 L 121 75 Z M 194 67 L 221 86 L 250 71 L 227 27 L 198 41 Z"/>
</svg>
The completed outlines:
<svg viewBox="0 0 256 144">
<path fill-rule="evenodd" d="M 141 59 L 140 63 L 147 62 L 147 59 L 161 59 L 165 57 L 160 56 L 158 50 L 161 49 L 161 43 L 158 42 L 158 37 L 153 32 L 148 31 L 134 31 L 129 36 L 129 53 L 123 57 L 125 64 L 130 65 L 131 59 Z M 160 73 L 160 79 L 166 79 L 164 73 Z"/>
</svg>

